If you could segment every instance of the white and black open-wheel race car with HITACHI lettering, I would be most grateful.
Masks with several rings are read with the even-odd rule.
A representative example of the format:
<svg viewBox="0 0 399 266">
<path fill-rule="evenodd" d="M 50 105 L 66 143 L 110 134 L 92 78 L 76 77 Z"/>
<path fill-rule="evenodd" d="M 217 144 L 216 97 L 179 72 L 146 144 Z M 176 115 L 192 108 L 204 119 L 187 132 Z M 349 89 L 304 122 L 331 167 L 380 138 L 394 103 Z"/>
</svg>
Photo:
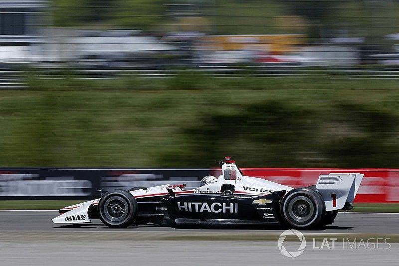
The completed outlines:
<svg viewBox="0 0 399 266">
<path fill-rule="evenodd" d="M 153 223 L 162 226 L 279 224 L 284 228 L 321 229 L 338 210 L 349 211 L 363 179 L 359 173 L 320 175 L 316 185 L 291 188 L 243 175 L 225 157 L 219 177 L 206 176 L 200 187 L 166 184 L 113 190 L 99 199 L 59 210 L 56 224 L 100 220 L 110 228 Z"/>
</svg>

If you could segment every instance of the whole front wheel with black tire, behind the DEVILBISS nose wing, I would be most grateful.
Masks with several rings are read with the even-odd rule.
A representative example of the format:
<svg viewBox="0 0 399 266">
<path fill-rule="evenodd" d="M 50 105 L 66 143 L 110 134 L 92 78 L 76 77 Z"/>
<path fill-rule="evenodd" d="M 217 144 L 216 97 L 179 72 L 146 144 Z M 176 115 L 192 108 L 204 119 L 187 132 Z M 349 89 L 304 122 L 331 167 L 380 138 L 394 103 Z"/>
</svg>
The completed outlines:
<svg viewBox="0 0 399 266">
<path fill-rule="evenodd" d="M 126 228 L 137 218 L 139 205 L 126 190 L 105 193 L 98 203 L 98 215 L 109 228 Z"/>
</svg>

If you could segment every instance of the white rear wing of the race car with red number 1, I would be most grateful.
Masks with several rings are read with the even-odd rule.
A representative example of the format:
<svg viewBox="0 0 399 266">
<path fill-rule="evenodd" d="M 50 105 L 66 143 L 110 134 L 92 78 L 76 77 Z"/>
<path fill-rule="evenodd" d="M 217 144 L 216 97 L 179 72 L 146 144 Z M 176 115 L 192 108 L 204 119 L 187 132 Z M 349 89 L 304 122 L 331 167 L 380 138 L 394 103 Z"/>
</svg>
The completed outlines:
<svg viewBox="0 0 399 266">
<path fill-rule="evenodd" d="M 352 203 L 362 183 L 363 174 L 330 173 L 320 175 L 316 189 L 323 197 L 326 211 L 351 209 Z"/>
</svg>

